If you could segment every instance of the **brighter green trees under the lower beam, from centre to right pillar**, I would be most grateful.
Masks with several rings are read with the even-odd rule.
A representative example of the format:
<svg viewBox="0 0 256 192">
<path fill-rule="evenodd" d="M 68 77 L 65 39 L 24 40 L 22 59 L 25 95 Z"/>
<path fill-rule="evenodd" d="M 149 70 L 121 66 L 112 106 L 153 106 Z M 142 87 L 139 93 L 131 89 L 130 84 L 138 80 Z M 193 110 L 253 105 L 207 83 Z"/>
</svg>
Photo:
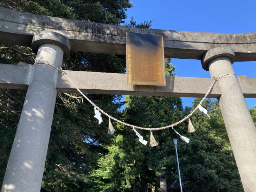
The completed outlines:
<svg viewBox="0 0 256 192">
<path fill-rule="evenodd" d="M 128 123 L 146 127 L 162 127 L 180 120 L 190 113 L 183 111 L 180 98 L 127 96 L 124 117 Z M 200 102 L 194 100 L 193 107 Z M 175 129 L 191 139 L 187 144 L 178 140 L 181 175 L 191 191 L 242 191 L 241 181 L 227 139 L 220 109 L 216 101 L 207 100 L 204 105 L 211 111 L 211 119 L 201 113 L 192 117 L 197 131 L 186 133 L 187 124 Z M 149 132 L 138 130 L 149 141 Z M 119 186 L 124 191 L 135 185 L 137 188 L 159 188 L 159 176 L 171 184 L 177 179 L 177 162 L 171 130 L 154 132 L 157 147 L 145 147 L 128 127 L 119 126 L 117 136 L 109 152 L 98 161 L 92 171 L 92 191 L 115 191 Z"/>
</svg>

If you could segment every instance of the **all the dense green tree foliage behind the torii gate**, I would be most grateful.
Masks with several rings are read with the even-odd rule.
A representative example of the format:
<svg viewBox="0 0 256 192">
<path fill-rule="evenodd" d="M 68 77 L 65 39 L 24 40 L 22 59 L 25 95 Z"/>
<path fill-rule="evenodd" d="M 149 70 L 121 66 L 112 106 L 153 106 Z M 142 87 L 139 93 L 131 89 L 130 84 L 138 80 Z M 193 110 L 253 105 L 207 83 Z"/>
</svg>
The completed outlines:
<svg viewBox="0 0 256 192">
<path fill-rule="evenodd" d="M 3 0 L 0 6 L 20 11 L 121 24 L 129 0 Z M 151 27 L 152 21 L 131 27 Z M 35 56 L 28 47 L 0 45 L 0 63 L 33 64 Z M 175 67 L 165 60 L 166 75 Z M 66 70 L 124 73 L 124 56 L 72 52 L 63 61 Z M 162 127 L 179 121 L 196 107 L 183 109 L 176 97 L 88 95 L 100 108 L 127 123 L 143 127 Z M 11 150 L 25 91 L 0 90 L 0 185 Z M 123 111 L 118 109 L 126 103 Z M 188 191 L 242 191 L 241 181 L 217 101 L 206 100 L 211 119 L 197 112 L 191 118 L 194 133 L 187 133 L 187 122 L 175 129 L 191 139 L 178 140 L 181 176 Z M 256 123 L 256 107 L 250 109 Z M 178 178 L 172 129 L 155 131 L 157 147 L 142 145 L 130 127 L 113 122 L 116 132 L 107 134 L 108 119 L 98 126 L 92 106 L 78 94 L 58 94 L 47 152 L 42 186 L 48 191 L 152 191 L 159 190 L 159 178 L 170 185 Z M 149 141 L 150 132 L 137 130 Z"/>
</svg>

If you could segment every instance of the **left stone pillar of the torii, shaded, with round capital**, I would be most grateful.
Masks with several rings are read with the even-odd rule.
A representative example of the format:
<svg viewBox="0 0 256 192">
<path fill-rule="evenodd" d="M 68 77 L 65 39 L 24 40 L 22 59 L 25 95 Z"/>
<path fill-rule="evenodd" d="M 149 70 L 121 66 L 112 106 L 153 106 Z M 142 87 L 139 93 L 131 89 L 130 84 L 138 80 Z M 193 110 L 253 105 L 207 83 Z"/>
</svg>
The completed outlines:
<svg viewBox="0 0 256 192">
<path fill-rule="evenodd" d="M 32 40 L 36 63 L 60 68 L 70 54 L 69 40 L 55 32 L 37 33 Z M 7 164 L 2 192 L 39 192 L 43 178 L 58 70 L 45 64 L 33 67 L 24 106 Z M 60 74 L 60 73 L 59 73 Z"/>
</svg>

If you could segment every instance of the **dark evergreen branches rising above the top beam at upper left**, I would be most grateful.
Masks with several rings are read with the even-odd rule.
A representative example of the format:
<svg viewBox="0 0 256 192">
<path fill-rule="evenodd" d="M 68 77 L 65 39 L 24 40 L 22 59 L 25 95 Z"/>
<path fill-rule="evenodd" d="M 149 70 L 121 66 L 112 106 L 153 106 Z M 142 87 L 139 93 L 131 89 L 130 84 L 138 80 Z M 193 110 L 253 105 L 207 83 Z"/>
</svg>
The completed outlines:
<svg viewBox="0 0 256 192">
<path fill-rule="evenodd" d="M 132 4 L 129 0 L 2 0 L 0 6 L 52 17 L 120 24 Z"/>
</svg>

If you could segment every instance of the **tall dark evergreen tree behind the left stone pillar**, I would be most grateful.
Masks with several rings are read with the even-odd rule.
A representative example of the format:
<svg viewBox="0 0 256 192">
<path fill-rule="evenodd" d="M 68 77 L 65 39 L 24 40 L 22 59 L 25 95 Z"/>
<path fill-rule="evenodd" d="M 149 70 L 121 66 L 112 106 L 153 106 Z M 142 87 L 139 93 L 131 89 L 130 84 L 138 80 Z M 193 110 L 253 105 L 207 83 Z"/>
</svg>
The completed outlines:
<svg viewBox="0 0 256 192">
<path fill-rule="evenodd" d="M 131 7 L 129 0 L 4 0 L 0 6 L 19 11 L 49 15 L 68 19 L 86 20 L 99 23 L 121 24 L 126 18 L 125 11 Z M 34 63 L 35 55 L 29 47 L 0 45 L 0 63 Z M 63 61 L 65 70 L 124 73 L 124 56 L 71 51 Z M 120 116 L 122 105 L 119 95 L 88 95 L 99 107 L 109 114 Z M 19 114 L 25 98 L 25 91 L 0 90 L 0 185 L 6 169 L 8 156 L 17 128 Z M 114 102 L 113 102 L 114 101 Z M 84 191 L 90 186 L 88 172 L 98 158 L 106 152 L 104 146 L 111 143 L 107 135 L 108 120 L 97 125 L 94 110 L 77 94 L 58 94 L 55 115 L 47 152 L 43 184 L 51 191 Z M 103 117 L 105 118 L 105 117 Z"/>
</svg>

